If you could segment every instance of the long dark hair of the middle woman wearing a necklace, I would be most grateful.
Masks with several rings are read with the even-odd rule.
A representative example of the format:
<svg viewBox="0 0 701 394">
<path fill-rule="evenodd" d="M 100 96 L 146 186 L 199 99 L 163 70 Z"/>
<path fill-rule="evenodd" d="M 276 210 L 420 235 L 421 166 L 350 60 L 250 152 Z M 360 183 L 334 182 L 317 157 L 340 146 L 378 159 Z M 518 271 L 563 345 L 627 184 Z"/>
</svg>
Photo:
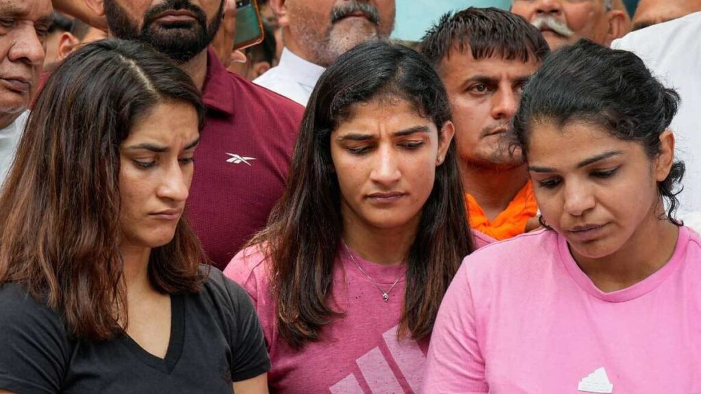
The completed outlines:
<svg viewBox="0 0 701 394">
<path fill-rule="evenodd" d="M 341 236 L 341 193 L 330 138 L 356 104 L 376 98 L 407 100 L 439 130 L 451 120 L 448 96 L 433 68 L 414 50 L 376 41 L 348 51 L 319 79 L 304 114 L 285 194 L 268 228 L 252 243 L 266 245 L 278 330 L 290 346 L 318 341 L 336 311 L 328 296 Z M 438 166 L 407 256 L 400 332 L 427 337 L 461 259 L 474 250 L 467 226 L 456 148 Z"/>
</svg>

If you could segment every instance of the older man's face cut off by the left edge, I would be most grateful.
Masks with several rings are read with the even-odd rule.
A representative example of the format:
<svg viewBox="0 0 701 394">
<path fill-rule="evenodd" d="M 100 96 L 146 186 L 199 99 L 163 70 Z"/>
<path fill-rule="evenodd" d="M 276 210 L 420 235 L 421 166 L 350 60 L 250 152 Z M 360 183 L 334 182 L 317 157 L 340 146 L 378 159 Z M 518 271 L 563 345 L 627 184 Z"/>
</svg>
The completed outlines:
<svg viewBox="0 0 701 394">
<path fill-rule="evenodd" d="M 0 0 L 0 128 L 34 95 L 52 11 L 50 0 Z"/>
</svg>

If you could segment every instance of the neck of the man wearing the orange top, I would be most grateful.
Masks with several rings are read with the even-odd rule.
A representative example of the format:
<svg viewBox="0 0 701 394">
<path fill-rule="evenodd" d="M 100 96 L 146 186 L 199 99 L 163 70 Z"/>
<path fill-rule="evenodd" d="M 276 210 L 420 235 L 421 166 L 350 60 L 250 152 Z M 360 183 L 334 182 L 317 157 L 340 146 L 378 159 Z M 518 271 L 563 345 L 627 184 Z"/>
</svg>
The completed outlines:
<svg viewBox="0 0 701 394">
<path fill-rule="evenodd" d="M 477 168 L 464 161 L 460 165 L 465 192 L 475 198 L 489 220 L 503 212 L 528 182 L 525 164 L 508 170 Z"/>
</svg>

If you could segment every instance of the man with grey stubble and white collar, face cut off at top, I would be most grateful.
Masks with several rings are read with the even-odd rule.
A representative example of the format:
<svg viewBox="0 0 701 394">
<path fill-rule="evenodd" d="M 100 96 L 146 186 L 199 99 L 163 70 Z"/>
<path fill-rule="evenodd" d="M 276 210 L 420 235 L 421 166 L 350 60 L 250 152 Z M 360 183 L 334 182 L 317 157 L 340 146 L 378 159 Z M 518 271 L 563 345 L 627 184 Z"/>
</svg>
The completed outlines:
<svg viewBox="0 0 701 394">
<path fill-rule="evenodd" d="M 347 50 L 386 39 L 395 0 L 271 0 L 285 49 L 277 67 L 254 83 L 306 105 L 325 67 Z"/>
</svg>

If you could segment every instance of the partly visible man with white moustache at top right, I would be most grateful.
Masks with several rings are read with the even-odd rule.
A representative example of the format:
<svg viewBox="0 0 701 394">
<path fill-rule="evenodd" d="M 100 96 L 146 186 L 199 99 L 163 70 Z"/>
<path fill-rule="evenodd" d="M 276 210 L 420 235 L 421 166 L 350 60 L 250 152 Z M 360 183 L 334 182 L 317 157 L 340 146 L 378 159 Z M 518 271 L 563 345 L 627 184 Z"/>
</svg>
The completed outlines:
<svg viewBox="0 0 701 394">
<path fill-rule="evenodd" d="M 511 12 L 536 26 L 550 50 L 580 38 L 609 46 L 627 32 L 625 11 L 613 0 L 513 0 Z"/>
</svg>

